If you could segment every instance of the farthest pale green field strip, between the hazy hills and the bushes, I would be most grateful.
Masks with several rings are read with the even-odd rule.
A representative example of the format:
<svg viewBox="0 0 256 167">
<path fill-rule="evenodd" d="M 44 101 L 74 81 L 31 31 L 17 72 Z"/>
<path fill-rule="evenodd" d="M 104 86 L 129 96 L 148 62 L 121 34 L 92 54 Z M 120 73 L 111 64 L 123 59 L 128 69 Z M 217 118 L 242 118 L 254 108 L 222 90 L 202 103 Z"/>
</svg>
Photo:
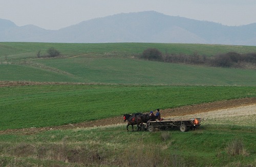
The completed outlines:
<svg viewBox="0 0 256 167">
<path fill-rule="evenodd" d="M 37 52 L 54 47 L 65 57 L 93 53 L 96 55 L 118 55 L 130 57 L 140 54 L 144 49 L 157 48 L 163 53 L 215 55 L 234 51 L 238 53 L 255 52 L 255 46 L 237 45 L 207 45 L 207 44 L 163 44 L 163 43 L 30 43 L 30 42 L 0 42 L 0 61 L 6 59 L 36 58 Z"/>
</svg>

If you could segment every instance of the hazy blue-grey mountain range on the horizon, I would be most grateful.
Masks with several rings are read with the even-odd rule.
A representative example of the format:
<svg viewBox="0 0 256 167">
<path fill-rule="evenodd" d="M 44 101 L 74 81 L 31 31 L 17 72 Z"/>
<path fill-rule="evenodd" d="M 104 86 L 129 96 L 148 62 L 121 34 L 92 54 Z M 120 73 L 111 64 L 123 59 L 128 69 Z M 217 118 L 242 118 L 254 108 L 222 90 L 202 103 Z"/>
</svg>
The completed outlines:
<svg viewBox="0 0 256 167">
<path fill-rule="evenodd" d="M 152 42 L 254 46 L 255 30 L 256 23 L 226 26 L 154 11 L 95 18 L 55 31 L 34 25 L 17 26 L 9 20 L 0 19 L 2 42 Z"/>
</svg>

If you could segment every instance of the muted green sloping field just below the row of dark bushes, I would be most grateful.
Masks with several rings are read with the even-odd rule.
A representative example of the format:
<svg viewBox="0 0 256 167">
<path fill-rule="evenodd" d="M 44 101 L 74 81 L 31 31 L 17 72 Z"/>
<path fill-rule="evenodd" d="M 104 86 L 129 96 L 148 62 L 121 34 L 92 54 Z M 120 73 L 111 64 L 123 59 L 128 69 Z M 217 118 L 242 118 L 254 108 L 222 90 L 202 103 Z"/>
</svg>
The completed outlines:
<svg viewBox="0 0 256 167">
<path fill-rule="evenodd" d="M 130 59 L 39 60 L 0 64 L 0 80 L 104 84 L 255 86 L 255 70 L 189 66 Z M 36 64 L 36 63 L 34 63 Z"/>
</svg>

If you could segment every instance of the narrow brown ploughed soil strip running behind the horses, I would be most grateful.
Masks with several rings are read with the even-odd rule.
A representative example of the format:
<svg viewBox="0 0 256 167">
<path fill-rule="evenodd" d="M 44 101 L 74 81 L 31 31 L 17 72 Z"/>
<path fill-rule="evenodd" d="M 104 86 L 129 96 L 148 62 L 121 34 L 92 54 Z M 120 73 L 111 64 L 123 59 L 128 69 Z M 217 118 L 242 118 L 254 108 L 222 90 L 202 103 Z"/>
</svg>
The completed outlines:
<svg viewBox="0 0 256 167">
<path fill-rule="evenodd" d="M 256 104 L 256 98 L 243 98 L 234 100 L 217 101 L 212 103 L 183 106 L 178 108 L 169 108 L 160 110 L 162 118 L 184 116 L 189 114 L 198 114 L 210 112 L 218 109 L 226 109 L 240 106 L 248 106 Z M 94 126 L 105 126 L 114 124 L 124 124 L 122 116 L 115 118 L 106 118 L 97 121 L 83 122 L 77 124 L 69 124 L 54 127 L 43 127 L 43 128 L 25 128 L 25 129 L 8 129 L 0 131 L 0 134 L 33 134 L 39 131 L 45 130 L 61 130 L 61 129 L 75 129 L 75 128 L 85 128 Z"/>
</svg>

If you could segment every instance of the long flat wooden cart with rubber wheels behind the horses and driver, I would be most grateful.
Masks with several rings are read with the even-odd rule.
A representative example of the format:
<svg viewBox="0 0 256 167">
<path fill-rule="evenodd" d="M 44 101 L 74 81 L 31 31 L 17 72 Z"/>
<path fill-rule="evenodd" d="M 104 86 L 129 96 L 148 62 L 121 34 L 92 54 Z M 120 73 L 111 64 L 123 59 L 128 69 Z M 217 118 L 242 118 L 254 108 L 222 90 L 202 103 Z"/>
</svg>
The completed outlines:
<svg viewBox="0 0 256 167">
<path fill-rule="evenodd" d="M 166 129 L 180 127 L 180 131 L 185 132 L 188 129 L 196 129 L 198 126 L 200 126 L 201 121 L 201 118 L 148 121 L 146 123 L 146 129 L 153 132 L 156 128 Z"/>
</svg>

